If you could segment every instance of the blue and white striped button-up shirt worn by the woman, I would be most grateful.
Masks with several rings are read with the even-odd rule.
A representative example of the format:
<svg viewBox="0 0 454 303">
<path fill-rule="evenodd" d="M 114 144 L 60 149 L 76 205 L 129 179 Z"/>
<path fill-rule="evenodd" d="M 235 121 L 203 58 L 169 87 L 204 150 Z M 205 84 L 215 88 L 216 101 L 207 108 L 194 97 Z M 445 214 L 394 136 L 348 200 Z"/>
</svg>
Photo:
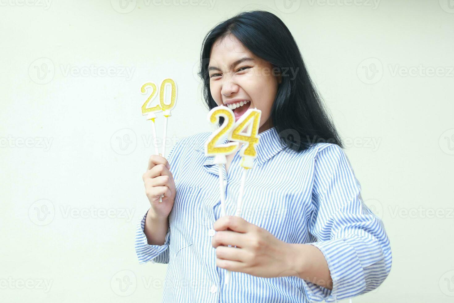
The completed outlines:
<svg viewBox="0 0 454 303">
<path fill-rule="evenodd" d="M 219 173 L 205 157 L 211 132 L 184 138 L 167 159 L 176 185 L 165 243 L 148 245 L 138 222 L 139 263 L 168 263 L 163 301 L 290 303 L 335 302 L 377 288 L 391 269 L 390 242 L 382 221 L 364 204 L 350 161 L 336 144 L 316 143 L 297 153 L 283 149 L 273 127 L 258 134 L 257 158 L 248 170 L 242 218 L 286 243 L 316 246 L 326 258 L 333 289 L 296 276 L 261 278 L 216 266 L 212 229 L 221 215 Z M 227 143 L 224 135 L 220 143 Z M 234 215 L 241 184 L 239 150 L 222 178 L 226 213 Z"/>
</svg>

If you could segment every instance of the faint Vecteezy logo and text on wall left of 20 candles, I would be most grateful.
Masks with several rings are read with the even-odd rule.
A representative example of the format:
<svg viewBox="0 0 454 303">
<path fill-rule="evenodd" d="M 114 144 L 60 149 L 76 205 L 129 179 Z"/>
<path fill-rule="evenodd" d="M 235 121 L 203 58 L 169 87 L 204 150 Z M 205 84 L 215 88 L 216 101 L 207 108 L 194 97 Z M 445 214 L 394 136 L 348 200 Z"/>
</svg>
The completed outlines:
<svg viewBox="0 0 454 303">
<path fill-rule="evenodd" d="M 77 65 L 58 65 L 63 77 L 118 77 L 125 78 L 127 81 L 133 77 L 135 67 L 130 66 L 97 66 L 94 64 Z M 55 75 L 55 65 L 49 58 L 39 58 L 29 66 L 29 76 L 37 84 L 47 84 Z"/>
</svg>

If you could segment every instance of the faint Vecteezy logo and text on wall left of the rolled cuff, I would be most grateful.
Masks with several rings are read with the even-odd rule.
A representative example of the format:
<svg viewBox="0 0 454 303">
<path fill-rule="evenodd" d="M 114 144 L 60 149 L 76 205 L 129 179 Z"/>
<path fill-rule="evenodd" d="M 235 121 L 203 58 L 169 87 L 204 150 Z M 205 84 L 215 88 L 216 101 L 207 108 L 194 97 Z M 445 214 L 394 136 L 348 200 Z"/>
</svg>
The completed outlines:
<svg viewBox="0 0 454 303">
<path fill-rule="evenodd" d="M 100 208 L 95 206 L 89 207 L 72 207 L 70 205 L 60 205 L 61 218 L 63 219 L 126 219 L 130 222 L 133 219 L 135 209 L 125 208 Z M 36 225 L 44 226 L 50 224 L 55 218 L 54 204 L 47 200 L 41 199 L 29 208 L 29 218 Z"/>
</svg>

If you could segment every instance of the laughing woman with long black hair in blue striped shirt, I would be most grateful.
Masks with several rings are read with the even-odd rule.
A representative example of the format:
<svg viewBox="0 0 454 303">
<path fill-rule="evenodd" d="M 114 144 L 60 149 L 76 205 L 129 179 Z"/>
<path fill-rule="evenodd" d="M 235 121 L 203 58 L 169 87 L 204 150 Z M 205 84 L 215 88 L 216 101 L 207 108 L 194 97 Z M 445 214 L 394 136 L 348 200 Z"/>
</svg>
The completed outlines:
<svg viewBox="0 0 454 303">
<path fill-rule="evenodd" d="M 150 157 L 143 181 L 151 207 L 136 251 L 140 263 L 169 264 L 163 302 L 332 302 L 377 288 L 390 272 L 389 240 L 361 199 L 286 25 L 266 11 L 220 23 L 205 37 L 199 75 L 208 109 L 228 106 L 236 119 L 251 106 L 262 111 L 260 142 L 241 218 L 232 215 L 238 149 L 222 176 L 204 155 L 211 132 L 179 141 L 168 161 Z"/>
</svg>

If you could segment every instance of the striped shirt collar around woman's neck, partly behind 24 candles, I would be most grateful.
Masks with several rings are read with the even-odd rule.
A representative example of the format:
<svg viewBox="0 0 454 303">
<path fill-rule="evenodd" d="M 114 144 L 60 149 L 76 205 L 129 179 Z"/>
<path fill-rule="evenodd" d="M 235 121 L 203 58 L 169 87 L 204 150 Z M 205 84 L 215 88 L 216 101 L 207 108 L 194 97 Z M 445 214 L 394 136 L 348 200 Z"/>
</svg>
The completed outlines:
<svg viewBox="0 0 454 303">
<path fill-rule="evenodd" d="M 260 166 L 272 156 L 284 149 L 284 146 L 281 143 L 279 134 L 277 133 L 275 127 L 266 129 L 260 134 L 257 134 L 257 136 L 259 137 L 259 142 L 256 145 L 257 159 L 255 159 L 254 163 Z M 223 134 L 218 142 L 218 144 L 226 144 L 228 142 L 227 134 Z M 204 154 L 205 142 L 202 142 L 201 146 L 197 146 L 196 150 Z M 204 166 L 213 164 L 214 156 L 206 157 L 205 162 L 203 163 Z"/>
</svg>

